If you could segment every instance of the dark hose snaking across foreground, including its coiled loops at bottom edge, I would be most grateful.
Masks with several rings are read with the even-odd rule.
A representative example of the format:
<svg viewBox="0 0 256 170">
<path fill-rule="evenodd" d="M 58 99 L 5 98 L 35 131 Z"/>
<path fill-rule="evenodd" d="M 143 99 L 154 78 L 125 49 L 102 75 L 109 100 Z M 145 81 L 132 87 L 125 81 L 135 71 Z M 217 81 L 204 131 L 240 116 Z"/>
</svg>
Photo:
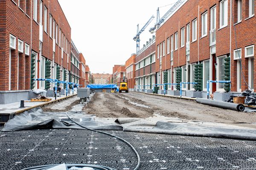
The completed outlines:
<svg viewBox="0 0 256 170">
<path fill-rule="evenodd" d="M 67 112 L 67 113 L 73 113 L 73 112 Z M 112 137 L 115 137 L 119 140 L 121 140 L 122 142 L 125 142 L 126 144 L 128 144 L 132 150 L 134 150 L 134 153 L 136 154 L 137 158 L 138 158 L 138 163 L 137 163 L 137 166 L 134 168 L 134 170 L 137 170 L 139 167 L 140 167 L 140 156 L 139 156 L 139 153 L 137 152 L 137 150 L 135 150 L 135 148 L 129 143 L 127 142 L 125 139 L 122 139 L 118 136 L 115 136 L 115 135 L 112 135 L 110 133 L 106 133 L 106 132 L 102 132 L 102 131 L 99 131 L 99 130 L 94 130 L 94 129 L 91 129 L 89 127 L 85 127 L 83 125 L 80 125 L 79 123 L 75 122 L 73 119 L 70 118 L 70 116 L 68 116 L 68 114 L 66 113 L 67 117 L 72 121 L 74 122 L 76 125 L 79 125 L 80 127 L 83 127 L 84 129 L 87 129 L 87 130 L 92 130 L 92 131 L 95 131 L 95 132 L 99 132 L 99 133 L 104 133 L 104 134 L 107 134 L 109 136 L 112 136 Z M 77 113 L 77 112 L 75 112 Z M 55 167 L 55 166 L 58 166 L 59 164 L 52 164 L 52 165 L 41 165 L 41 166 L 37 166 L 37 167 L 29 167 L 29 168 L 25 168 L 23 170 L 48 170 L 52 167 Z M 101 166 L 101 165 L 93 165 L 93 164 L 66 164 L 68 168 L 70 167 L 92 167 L 96 170 L 116 170 L 116 169 L 113 169 L 113 168 L 110 168 L 110 167 L 105 167 L 105 166 Z"/>
</svg>

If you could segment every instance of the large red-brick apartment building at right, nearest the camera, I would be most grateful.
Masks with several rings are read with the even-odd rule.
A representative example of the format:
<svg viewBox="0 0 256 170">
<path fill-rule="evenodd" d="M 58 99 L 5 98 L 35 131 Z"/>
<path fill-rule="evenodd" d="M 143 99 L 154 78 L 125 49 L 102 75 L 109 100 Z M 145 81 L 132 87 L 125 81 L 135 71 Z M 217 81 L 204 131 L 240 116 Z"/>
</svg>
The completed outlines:
<svg viewBox="0 0 256 170">
<path fill-rule="evenodd" d="M 170 90 L 206 91 L 208 80 L 231 80 L 233 93 L 248 89 L 246 82 L 253 89 L 254 11 L 254 0 L 187 0 L 156 31 L 156 82 L 165 83 L 166 74 L 168 83 L 198 82 Z M 209 89 L 229 91 L 230 84 Z"/>
</svg>

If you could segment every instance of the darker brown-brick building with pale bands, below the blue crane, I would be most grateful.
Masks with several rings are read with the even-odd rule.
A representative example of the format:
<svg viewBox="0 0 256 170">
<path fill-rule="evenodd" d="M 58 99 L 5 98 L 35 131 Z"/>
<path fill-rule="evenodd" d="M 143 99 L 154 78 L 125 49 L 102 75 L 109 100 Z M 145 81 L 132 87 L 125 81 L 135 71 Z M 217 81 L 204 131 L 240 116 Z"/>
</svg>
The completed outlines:
<svg viewBox="0 0 256 170">
<path fill-rule="evenodd" d="M 152 89 L 155 84 L 156 37 L 143 46 L 135 57 L 136 88 Z"/>
</svg>

